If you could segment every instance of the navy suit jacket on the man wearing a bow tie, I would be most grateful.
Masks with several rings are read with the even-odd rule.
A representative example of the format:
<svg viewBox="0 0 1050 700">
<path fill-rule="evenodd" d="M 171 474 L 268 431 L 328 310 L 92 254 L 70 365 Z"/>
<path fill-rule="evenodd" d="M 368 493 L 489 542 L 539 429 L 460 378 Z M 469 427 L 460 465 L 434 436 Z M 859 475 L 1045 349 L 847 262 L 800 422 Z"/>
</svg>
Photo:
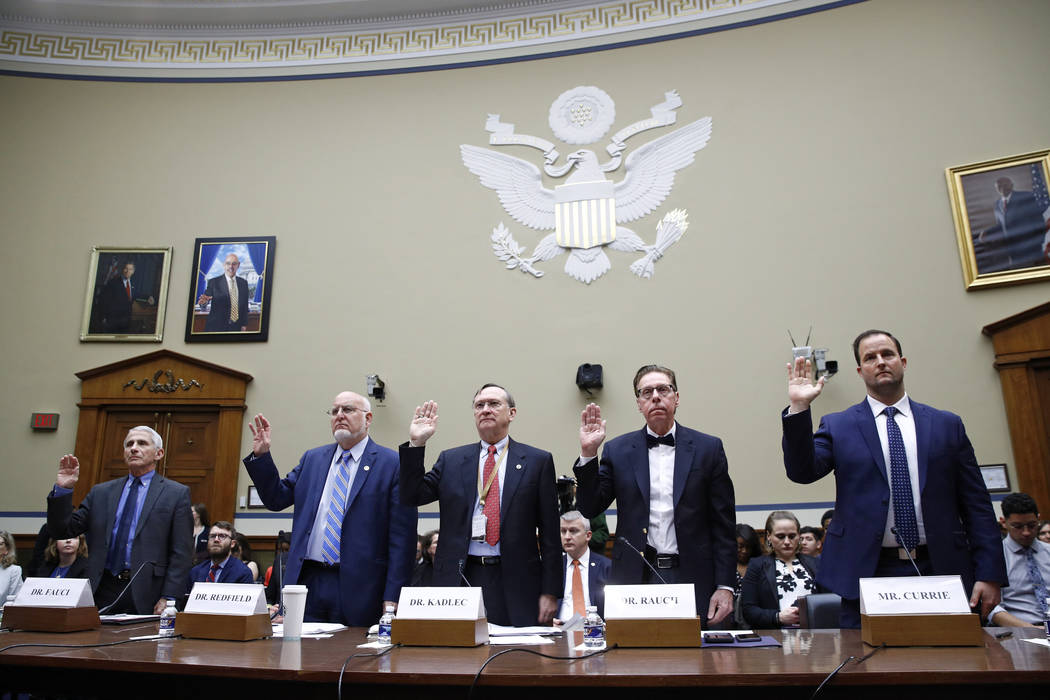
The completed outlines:
<svg viewBox="0 0 1050 700">
<path fill-rule="evenodd" d="M 646 429 L 606 443 L 601 464 L 578 465 L 576 504 L 588 517 L 616 501 L 610 584 L 640 584 L 645 564 L 620 537 L 644 549 L 649 528 Z M 681 582 L 694 584 L 696 613 L 707 617 L 718 586 L 736 587 L 736 500 L 721 440 L 678 425 L 674 449 L 674 531 Z"/>
</svg>

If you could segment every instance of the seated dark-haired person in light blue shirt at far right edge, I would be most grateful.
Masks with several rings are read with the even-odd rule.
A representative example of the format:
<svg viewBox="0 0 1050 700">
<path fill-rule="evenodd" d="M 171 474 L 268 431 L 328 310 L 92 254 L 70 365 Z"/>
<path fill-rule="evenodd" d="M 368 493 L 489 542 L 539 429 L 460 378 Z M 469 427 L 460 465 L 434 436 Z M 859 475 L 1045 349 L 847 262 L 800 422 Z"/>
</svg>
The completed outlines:
<svg viewBox="0 0 1050 700">
<path fill-rule="evenodd" d="M 1027 493 L 1011 493 L 1003 499 L 1006 528 L 1003 556 L 1010 585 L 1003 589 L 1003 600 L 988 615 L 999 627 L 1043 627 L 1050 586 L 1050 545 L 1035 537 L 1040 513 Z"/>
</svg>

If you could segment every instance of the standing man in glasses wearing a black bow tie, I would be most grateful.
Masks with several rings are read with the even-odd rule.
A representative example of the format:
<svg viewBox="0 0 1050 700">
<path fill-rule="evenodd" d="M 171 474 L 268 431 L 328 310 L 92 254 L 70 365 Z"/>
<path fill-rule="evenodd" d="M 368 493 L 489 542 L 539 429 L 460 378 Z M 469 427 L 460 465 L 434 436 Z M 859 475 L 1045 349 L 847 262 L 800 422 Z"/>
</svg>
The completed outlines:
<svg viewBox="0 0 1050 700">
<path fill-rule="evenodd" d="M 646 365 L 634 375 L 646 427 L 605 440 L 602 409 L 581 416 L 576 503 L 593 516 L 616 501 L 616 543 L 610 584 L 693 584 L 705 624 L 733 612 L 736 586 L 736 502 L 721 441 L 678 425 L 674 372 Z M 625 544 L 644 549 L 654 576 Z"/>
</svg>

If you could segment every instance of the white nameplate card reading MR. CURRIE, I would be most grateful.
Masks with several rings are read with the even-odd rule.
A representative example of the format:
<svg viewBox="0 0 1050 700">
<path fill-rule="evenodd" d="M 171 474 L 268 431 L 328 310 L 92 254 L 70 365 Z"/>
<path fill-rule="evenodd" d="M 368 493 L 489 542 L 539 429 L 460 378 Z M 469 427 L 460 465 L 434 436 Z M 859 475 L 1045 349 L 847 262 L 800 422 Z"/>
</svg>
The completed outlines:
<svg viewBox="0 0 1050 700">
<path fill-rule="evenodd" d="M 863 615 L 968 613 L 970 601 L 959 576 L 861 578 Z"/>
</svg>

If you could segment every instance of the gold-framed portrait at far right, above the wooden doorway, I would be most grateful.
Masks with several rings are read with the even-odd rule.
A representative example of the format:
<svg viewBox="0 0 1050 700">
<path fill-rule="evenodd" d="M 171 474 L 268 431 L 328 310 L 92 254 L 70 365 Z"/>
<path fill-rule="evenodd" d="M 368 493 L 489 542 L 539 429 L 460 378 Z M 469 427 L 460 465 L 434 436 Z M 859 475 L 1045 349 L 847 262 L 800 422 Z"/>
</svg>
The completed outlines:
<svg viewBox="0 0 1050 700">
<path fill-rule="evenodd" d="M 1050 278 L 1050 150 L 947 168 L 945 177 L 967 291 Z"/>
</svg>

